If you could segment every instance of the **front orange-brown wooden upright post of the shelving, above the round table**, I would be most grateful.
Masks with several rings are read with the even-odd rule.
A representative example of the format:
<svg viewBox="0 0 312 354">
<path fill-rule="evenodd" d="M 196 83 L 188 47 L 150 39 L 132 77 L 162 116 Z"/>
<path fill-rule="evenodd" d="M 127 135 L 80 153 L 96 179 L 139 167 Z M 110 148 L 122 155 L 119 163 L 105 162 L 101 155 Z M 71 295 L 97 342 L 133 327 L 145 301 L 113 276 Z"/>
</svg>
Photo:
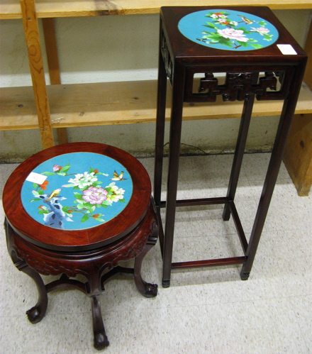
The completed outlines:
<svg viewBox="0 0 312 354">
<path fill-rule="evenodd" d="M 21 0 L 21 10 L 41 140 L 43 148 L 50 148 L 54 145 L 54 140 L 50 123 L 50 110 L 45 86 L 35 2 L 33 0 Z"/>
</svg>

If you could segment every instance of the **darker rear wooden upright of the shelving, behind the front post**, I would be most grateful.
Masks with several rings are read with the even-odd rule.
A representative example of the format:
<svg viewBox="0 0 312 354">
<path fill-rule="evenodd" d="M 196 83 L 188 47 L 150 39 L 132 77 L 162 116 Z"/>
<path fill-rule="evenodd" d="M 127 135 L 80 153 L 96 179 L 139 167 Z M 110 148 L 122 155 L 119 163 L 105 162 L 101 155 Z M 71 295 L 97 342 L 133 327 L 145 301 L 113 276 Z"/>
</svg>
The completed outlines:
<svg viewBox="0 0 312 354">
<path fill-rule="evenodd" d="M 45 36 L 45 51 L 47 52 L 50 84 L 58 85 L 61 83 L 61 75 L 57 55 L 54 18 L 43 18 L 43 34 Z M 67 143 L 66 128 L 57 128 L 57 141 L 59 144 Z"/>
</svg>

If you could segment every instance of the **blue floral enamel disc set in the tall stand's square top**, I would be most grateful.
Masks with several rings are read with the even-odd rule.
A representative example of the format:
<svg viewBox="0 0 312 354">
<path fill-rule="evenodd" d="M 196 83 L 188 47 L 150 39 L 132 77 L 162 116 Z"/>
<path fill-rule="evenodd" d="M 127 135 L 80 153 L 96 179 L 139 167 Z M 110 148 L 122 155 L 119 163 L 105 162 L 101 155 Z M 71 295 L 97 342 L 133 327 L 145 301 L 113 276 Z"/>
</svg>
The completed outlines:
<svg viewBox="0 0 312 354">
<path fill-rule="evenodd" d="M 257 50 L 272 45 L 279 37 L 277 28 L 263 18 L 226 9 L 189 13 L 178 27 L 189 40 L 221 50 Z"/>
</svg>

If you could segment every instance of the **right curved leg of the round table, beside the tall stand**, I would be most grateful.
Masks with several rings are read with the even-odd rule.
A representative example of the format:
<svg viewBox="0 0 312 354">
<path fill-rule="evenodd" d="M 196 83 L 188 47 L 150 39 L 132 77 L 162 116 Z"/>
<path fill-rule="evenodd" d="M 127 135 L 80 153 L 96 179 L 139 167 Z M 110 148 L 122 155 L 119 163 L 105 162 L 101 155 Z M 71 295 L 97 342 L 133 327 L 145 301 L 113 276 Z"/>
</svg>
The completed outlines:
<svg viewBox="0 0 312 354">
<path fill-rule="evenodd" d="M 138 288 L 138 291 L 143 295 L 143 297 L 155 297 L 157 296 L 157 284 L 150 284 L 143 280 L 141 275 L 141 267 L 142 262 L 147 254 L 147 252 L 155 245 L 158 236 L 158 227 L 157 225 L 154 226 L 152 233 L 150 234 L 146 245 L 144 246 L 140 255 L 135 258 L 134 262 L 134 281 L 135 285 Z"/>
</svg>

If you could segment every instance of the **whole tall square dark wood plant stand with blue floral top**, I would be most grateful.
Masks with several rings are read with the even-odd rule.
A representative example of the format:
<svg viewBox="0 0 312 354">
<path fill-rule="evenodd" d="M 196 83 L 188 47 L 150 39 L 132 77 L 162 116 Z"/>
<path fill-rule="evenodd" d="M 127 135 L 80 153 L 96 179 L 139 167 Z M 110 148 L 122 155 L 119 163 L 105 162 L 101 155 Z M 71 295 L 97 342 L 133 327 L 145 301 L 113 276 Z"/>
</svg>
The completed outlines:
<svg viewBox="0 0 312 354">
<path fill-rule="evenodd" d="M 247 280 L 249 277 L 282 162 L 306 60 L 306 53 L 266 7 L 168 6 L 161 9 L 154 197 L 159 216 L 160 208 L 166 208 L 165 230 L 160 227 L 163 287 L 169 287 L 171 271 L 177 268 L 242 264 L 241 278 Z M 225 73 L 223 84 L 216 77 L 220 73 Z M 201 74 L 197 91 L 194 89 L 196 74 Z M 162 201 L 167 77 L 172 85 L 172 112 L 167 199 Z M 217 96 L 222 96 L 223 101 L 244 102 L 228 193 L 218 198 L 177 200 L 183 104 L 213 102 Z M 234 199 L 255 99 L 284 100 L 284 106 L 255 223 L 247 242 Z M 233 217 L 243 255 L 172 263 L 177 206 L 207 204 L 225 205 L 223 220 Z"/>
</svg>

